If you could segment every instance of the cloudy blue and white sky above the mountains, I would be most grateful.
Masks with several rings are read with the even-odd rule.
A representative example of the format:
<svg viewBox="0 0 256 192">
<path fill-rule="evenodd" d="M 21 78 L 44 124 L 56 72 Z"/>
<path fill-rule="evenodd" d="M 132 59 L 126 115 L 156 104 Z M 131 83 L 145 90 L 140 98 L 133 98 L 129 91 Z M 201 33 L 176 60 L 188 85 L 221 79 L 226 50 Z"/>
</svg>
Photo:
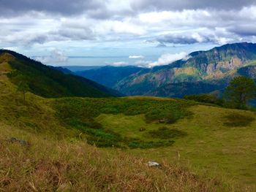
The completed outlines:
<svg viewBox="0 0 256 192">
<path fill-rule="evenodd" d="M 256 42 L 255 0 L 0 0 L 0 47 L 43 64 L 159 66 Z"/>
</svg>

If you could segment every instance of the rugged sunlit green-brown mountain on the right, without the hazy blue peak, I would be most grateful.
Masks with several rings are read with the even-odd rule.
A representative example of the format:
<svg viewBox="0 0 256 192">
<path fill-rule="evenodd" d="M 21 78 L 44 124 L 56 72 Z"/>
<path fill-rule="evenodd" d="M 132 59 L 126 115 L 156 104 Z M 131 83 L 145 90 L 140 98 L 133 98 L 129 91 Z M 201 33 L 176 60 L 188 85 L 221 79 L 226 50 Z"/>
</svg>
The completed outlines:
<svg viewBox="0 0 256 192">
<path fill-rule="evenodd" d="M 256 44 L 223 45 L 208 51 L 194 52 L 189 56 L 187 61 L 176 61 L 168 66 L 158 66 L 149 72 L 126 77 L 113 88 L 129 95 L 154 96 L 184 96 L 191 92 L 190 88 L 193 86 L 211 87 L 216 83 L 217 90 L 219 87 L 225 87 L 231 78 L 240 75 L 242 72 L 239 71 L 240 68 L 255 64 Z M 247 67 L 246 70 L 247 72 L 243 74 L 254 77 L 252 67 Z M 192 85 L 193 83 L 195 85 Z M 170 85 L 171 89 L 168 88 Z M 183 91 L 183 94 L 178 93 L 181 85 L 187 90 Z M 212 88 L 209 90 L 199 88 L 197 93 L 209 93 L 209 91 L 213 91 Z"/>
</svg>

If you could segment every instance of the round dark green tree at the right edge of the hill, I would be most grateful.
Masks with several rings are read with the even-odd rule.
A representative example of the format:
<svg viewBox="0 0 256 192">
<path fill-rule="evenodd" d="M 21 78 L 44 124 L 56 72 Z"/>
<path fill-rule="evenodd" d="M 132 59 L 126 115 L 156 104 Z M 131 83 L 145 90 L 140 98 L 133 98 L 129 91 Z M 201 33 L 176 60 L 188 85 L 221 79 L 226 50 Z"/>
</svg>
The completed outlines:
<svg viewBox="0 0 256 192">
<path fill-rule="evenodd" d="M 256 85 L 249 77 L 233 78 L 225 90 L 225 100 L 238 109 L 246 108 L 247 101 L 256 98 Z"/>
</svg>

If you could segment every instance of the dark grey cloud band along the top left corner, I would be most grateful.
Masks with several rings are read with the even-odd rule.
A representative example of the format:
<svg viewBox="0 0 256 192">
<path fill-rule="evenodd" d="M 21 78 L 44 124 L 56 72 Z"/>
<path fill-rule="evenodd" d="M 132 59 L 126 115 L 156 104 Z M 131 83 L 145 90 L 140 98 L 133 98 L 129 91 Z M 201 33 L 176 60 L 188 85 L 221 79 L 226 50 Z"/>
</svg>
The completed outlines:
<svg viewBox="0 0 256 192">
<path fill-rule="evenodd" d="M 0 15 L 17 15 L 29 11 L 78 15 L 104 6 L 104 1 L 100 0 L 0 0 Z"/>
</svg>

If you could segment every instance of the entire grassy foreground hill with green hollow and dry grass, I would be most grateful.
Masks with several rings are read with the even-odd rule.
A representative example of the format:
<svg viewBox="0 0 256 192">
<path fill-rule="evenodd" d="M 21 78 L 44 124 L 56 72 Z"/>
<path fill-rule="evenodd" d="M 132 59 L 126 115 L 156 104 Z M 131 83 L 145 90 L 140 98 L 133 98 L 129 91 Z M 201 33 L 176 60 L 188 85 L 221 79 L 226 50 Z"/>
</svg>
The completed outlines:
<svg viewBox="0 0 256 192">
<path fill-rule="evenodd" d="M 12 71 L 2 59 L 2 191 L 255 191 L 255 112 L 153 97 L 23 101 Z"/>
</svg>

